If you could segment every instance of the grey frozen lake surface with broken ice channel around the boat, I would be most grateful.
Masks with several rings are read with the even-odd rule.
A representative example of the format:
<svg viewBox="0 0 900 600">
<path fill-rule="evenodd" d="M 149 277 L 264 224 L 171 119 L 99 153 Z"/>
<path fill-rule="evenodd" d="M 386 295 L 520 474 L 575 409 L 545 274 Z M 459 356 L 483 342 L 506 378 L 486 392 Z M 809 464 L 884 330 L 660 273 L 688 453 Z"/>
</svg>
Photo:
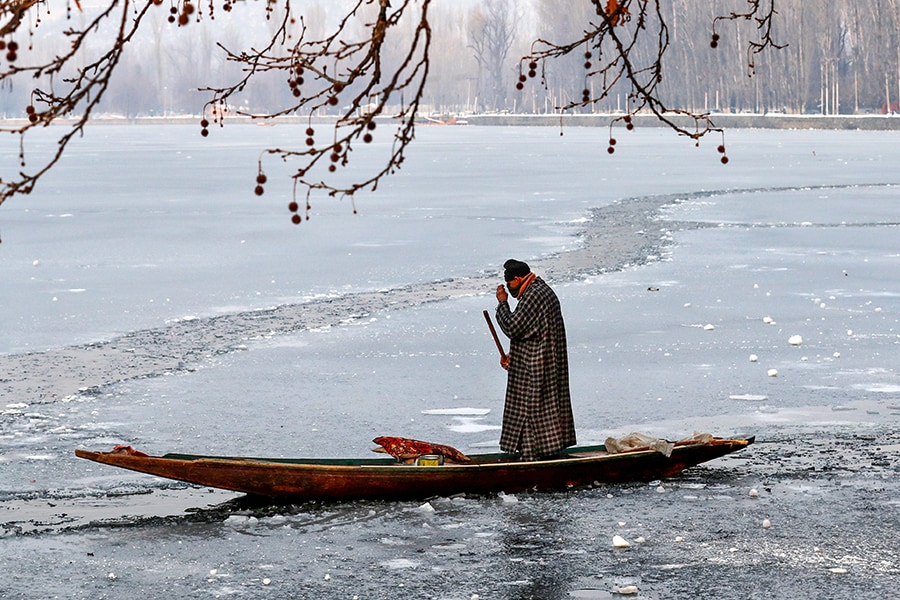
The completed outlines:
<svg viewBox="0 0 900 600">
<path fill-rule="evenodd" d="M 252 187 L 260 148 L 296 133 L 93 127 L 0 208 L 11 598 L 35 580 L 47 597 L 896 588 L 896 541 L 861 515 L 896 524 L 900 504 L 897 134 L 729 131 L 722 166 L 715 143 L 663 130 L 609 157 L 605 129 L 426 127 L 359 214 L 318 199 L 294 226 L 277 168 L 265 196 Z M 509 257 L 560 296 L 580 443 L 702 430 L 758 446 L 665 484 L 665 507 L 655 486 L 617 486 L 200 517 L 184 508 L 235 495 L 73 457 L 365 456 L 378 435 L 493 450 L 505 380 L 481 311 Z M 825 448 L 850 461 L 841 477 L 821 475 Z M 648 543 L 613 553 L 620 531 Z"/>
</svg>

